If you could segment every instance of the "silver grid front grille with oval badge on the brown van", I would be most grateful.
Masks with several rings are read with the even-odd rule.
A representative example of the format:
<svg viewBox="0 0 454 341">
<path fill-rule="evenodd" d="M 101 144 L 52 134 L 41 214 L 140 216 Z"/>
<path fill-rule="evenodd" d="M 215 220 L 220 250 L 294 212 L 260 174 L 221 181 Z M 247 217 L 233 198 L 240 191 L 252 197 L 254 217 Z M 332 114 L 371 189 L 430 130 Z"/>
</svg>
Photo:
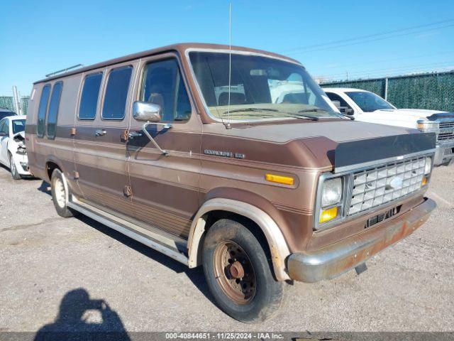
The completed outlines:
<svg viewBox="0 0 454 341">
<path fill-rule="evenodd" d="M 347 215 L 369 210 L 421 188 L 426 158 L 389 163 L 353 174 L 353 193 Z"/>
</svg>

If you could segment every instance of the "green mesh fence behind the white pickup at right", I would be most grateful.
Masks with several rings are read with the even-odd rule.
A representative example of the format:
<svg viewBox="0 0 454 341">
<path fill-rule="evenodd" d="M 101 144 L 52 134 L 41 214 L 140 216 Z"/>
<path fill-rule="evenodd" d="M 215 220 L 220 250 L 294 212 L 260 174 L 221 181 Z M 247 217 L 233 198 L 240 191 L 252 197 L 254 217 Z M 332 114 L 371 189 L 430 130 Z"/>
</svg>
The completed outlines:
<svg viewBox="0 0 454 341">
<path fill-rule="evenodd" d="M 454 112 L 454 71 L 370 80 L 321 83 L 322 87 L 355 87 L 375 92 L 398 108 Z"/>
</svg>

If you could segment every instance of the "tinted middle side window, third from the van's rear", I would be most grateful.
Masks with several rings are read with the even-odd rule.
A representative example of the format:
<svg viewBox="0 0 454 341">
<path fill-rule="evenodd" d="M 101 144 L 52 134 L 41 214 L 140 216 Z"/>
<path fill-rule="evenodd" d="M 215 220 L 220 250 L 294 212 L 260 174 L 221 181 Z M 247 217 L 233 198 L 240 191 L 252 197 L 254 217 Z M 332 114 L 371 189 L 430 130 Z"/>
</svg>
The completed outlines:
<svg viewBox="0 0 454 341">
<path fill-rule="evenodd" d="M 93 73 L 85 77 L 80 97 L 79 119 L 94 119 L 96 117 L 101 80 L 102 72 Z"/>
</svg>

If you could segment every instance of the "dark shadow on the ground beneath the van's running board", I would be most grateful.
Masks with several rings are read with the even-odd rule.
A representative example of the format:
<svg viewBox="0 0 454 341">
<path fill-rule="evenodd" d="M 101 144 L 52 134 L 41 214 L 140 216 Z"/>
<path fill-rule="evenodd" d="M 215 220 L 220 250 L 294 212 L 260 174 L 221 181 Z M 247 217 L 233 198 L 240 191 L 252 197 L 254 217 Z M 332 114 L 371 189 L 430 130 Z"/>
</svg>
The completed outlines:
<svg viewBox="0 0 454 341">
<path fill-rule="evenodd" d="M 49 188 L 50 185 L 43 181 L 38 190 L 48 195 L 51 195 Z M 165 254 L 162 254 L 159 251 L 155 251 L 154 249 L 151 249 L 150 247 L 147 247 L 144 244 L 141 244 L 135 241 L 134 239 L 131 239 L 130 237 L 127 237 L 124 234 L 121 234 L 120 232 L 111 229 L 110 227 L 106 227 L 106 225 L 101 224 L 100 222 L 96 222 L 96 220 L 92 220 L 91 218 L 85 215 L 77 215 L 76 219 L 80 220 L 81 222 L 84 222 L 85 224 L 89 225 L 90 227 L 93 227 L 94 229 L 97 229 L 99 232 L 116 239 L 118 242 L 121 242 L 122 244 L 126 245 L 126 247 L 130 247 L 131 249 L 140 252 L 140 254 L 143 254 L 144 256 L 147 256 L 148 258 L 153 259 L 154 261 L 157 261 L 164 266 L 167 266 L 167 268 L 172 269 L 177 274 L 181 273 L 186 274 L 189 280 L 191 280 L 192 283 L 194 283 L 194 286 L 196 286 L 196 288 L 198 288 L 199 291 L 201 291 L 201 293 L 203 293 L 204 296 L 208 298 L 209 301 L 211 301 L 211 303 L 216 305 L 214 297 L 211 296 L 211 293 L 209 292 L 209 288 L 205 281 L 204 271 L 201 268 L 201 266 L 195 269 L 189 269 L 186 265 L 181 264 L 178 261 L 175 261 L 169 256 L 165 256 Z"/>
</svg>

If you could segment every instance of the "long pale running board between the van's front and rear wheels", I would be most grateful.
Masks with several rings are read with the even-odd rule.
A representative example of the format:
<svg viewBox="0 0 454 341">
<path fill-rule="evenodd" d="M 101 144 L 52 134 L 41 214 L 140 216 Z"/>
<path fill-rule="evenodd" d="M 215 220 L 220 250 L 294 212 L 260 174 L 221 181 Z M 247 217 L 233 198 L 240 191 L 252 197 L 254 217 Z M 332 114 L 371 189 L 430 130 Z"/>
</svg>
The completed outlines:
<svg viewBox="0 0 454 341">
<path fill-rule="evenodd" d="M 187 242 L 183 239 L 178 239 L 178 237 L 171 239 L 170 237 L 165 237 L 148 229 L 144 229 L 143 227 L 132 224 L 131 222 L 118 218 L 103 210 L 99 210 L 86 202 L 81 202 L 74 196 L 72 196 L 71 201 L 67 202 L 67 206 L 72 210 L 82 213 L 82 215 L 86 215 L 87 217 L 96 220 L 96 222 L 100 222 L 111 229 L 115 229 L 116 231 L 125 234 L 137 242 L 170 256 L 182 264 L 189 264 L 187 255 L 184 254 L 183 251 L 180 251 L 187 249 Z"/>
</svg>

